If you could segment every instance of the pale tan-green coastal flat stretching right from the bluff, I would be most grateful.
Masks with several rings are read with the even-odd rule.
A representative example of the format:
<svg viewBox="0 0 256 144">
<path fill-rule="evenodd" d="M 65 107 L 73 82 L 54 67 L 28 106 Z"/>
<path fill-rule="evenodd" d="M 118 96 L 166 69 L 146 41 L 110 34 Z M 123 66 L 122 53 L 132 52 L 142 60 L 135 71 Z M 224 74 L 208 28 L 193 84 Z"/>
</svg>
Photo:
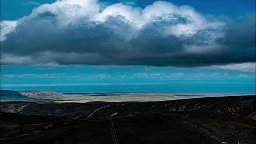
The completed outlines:
<svg viewBox="0 0 256 144">
<path fill-rule="evenodd" d="M 65 98 L 53 99 L 57 103 L 85 103 L 92 101 L 102 102 L 150 102 L 167 101 L 178 99 L 195 99 L 210 97 L 248 96 L 255 94 L 206 94 L 206 93 L 115 93 L 114 95 L 93 95 L 93 94 L 64 94 Z M 72 99 L 75 98 L 75 99 Z"/>
</svg>

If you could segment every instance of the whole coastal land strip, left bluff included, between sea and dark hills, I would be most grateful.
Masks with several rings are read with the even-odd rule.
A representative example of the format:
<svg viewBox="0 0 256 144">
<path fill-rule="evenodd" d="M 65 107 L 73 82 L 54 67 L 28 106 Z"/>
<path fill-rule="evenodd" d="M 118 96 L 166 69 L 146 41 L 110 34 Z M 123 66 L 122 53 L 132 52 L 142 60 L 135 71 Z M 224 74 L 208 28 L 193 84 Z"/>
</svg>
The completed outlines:
<svg viewBox="0 0 256 144">
<path fill-rule="evenodd" d="M 56 91 L 13 91 L 1 90 L 1 101 L 50 101 L 56 103 L 86 103 L 92 101 L 166 101 L 207 97 L 249 96 L 238 93 L 82 93 L 63 94 Z"/>
</svg>

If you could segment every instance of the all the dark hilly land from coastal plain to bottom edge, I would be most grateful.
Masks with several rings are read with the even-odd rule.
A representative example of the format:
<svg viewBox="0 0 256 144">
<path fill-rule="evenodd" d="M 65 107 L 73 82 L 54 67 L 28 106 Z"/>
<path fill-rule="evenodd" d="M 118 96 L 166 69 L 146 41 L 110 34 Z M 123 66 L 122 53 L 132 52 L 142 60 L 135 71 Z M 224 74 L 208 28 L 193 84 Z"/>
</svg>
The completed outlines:
<svg viewBox="0 0 256 144">
<path fill-rule="evenodd" d="M 255 144 L 255 103 L 255 96 L 158 102 L 1 102 L 0 143 L 113 144 L 111 126 L 115 125 L 120 144 Z"/>
</svg>

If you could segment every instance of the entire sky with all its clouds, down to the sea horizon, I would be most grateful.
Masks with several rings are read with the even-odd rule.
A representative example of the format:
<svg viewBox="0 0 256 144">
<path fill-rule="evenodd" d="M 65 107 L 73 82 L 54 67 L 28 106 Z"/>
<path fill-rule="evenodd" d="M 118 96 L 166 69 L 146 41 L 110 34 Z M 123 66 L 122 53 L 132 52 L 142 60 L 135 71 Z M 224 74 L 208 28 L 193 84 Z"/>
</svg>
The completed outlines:
<svg viewBox="0 0 256 144">
<path fill-rule="evenodd" d="M 1 89 L 202 80 L 255 87 L 255 0 L 0 2 Z"/>
</svg>

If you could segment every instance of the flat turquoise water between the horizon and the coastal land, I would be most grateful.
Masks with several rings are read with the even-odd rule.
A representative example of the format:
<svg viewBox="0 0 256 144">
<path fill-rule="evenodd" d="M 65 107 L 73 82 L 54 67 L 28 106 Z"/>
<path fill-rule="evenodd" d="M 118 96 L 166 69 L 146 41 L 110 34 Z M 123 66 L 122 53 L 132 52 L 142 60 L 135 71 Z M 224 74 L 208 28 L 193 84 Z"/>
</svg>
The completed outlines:
<svg viewBox="0 0 256 144">
<path fill-rule="evenodd" d="M 170 93 L 235 93 L 255 94 L 255 81 L 193 81 L 173 83 L 100 83 L 60 84 L 51 86 L 2 87 L 1 90 L 53 90 L 61 93 L 108 93 L 108 92 L 170 92 Z"/>
</svg>

